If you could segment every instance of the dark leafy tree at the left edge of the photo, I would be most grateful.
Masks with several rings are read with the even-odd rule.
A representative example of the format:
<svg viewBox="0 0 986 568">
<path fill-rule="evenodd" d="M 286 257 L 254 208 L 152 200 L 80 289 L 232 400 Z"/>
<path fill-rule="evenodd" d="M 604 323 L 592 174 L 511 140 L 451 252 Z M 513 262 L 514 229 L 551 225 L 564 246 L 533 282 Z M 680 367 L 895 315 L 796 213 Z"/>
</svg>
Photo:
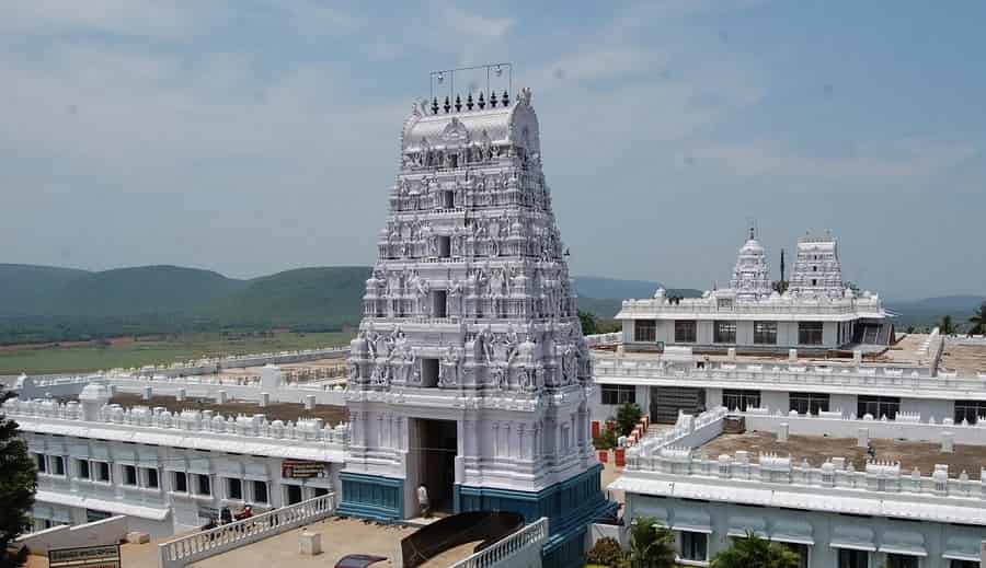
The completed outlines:
<svg viewBox="0 0 986 568">
<path fill-rule="evenodd" d="M 0 390 L 0 404 L 12 396 Z M 37 471 L 27 453 L 27 444 L 18 437 L 18 422 L 0 414 L 0 568 L 21 566 L 27 549 L 8 550 L 14 538 L 28 526 L 27 511 L 34 506 Z"/>
</svg>

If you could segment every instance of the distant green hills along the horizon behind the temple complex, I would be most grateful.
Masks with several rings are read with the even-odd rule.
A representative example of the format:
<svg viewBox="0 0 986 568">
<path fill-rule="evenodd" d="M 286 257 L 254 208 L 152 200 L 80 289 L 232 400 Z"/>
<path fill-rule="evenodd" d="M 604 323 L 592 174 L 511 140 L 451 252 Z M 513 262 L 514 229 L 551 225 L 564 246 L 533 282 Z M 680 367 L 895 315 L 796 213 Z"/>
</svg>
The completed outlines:
<svg viewBox="0 0 986 568">
<path fill-rule="evenodd" d="M 339 331 L 359 323 L 366 266 L 312 267 L 252 279 L 177 266 L 103 271 L 0 264 L 0 344 L 218 329 Z M 650 298 L 661 282 L 575 277 L 581 310 L 611 318 L 627 298 Z M 669 294 L 700 295 L 693 289 Z M 964 323 L 983 297 L 891 303 L 898 326 L 943 314 Z"/>
</svg>

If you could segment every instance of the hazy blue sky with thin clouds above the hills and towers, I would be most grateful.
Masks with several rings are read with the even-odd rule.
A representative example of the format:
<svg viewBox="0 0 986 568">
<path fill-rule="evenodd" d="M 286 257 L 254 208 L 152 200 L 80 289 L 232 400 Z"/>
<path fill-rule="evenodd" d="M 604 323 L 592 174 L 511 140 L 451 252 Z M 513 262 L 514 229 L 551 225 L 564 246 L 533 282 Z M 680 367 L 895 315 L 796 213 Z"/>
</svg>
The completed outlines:
<svg viewBox="0 0 986 568">
<path fill-rule="evenodd" d="M 986 3 L 942 5 L 2 2 L 0 262 L 372 264 L 429 71 L 512 62 L 573 274 L 723 286 L 754 222 L 984 294 Z"/>
</svg>

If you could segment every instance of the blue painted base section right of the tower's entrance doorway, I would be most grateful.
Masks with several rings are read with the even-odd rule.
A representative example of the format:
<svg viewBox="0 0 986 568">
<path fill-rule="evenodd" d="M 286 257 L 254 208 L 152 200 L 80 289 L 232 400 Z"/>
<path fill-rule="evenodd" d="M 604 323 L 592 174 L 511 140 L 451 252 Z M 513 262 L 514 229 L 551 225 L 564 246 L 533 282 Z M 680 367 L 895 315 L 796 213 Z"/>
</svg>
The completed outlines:
<svg viewBox="0 0 986 568">
<path fill-rule="evenodd" d="M 527 522 L 548 518 L 551 535 L 543 550 L 544 568 L 584 565 L 585 531 L 588 523 L 611 515 L 617 503 L 603 495 L 601 465 L 537 492 L 457 485 L 456 512 L 516 511 Z"/>
</svg>

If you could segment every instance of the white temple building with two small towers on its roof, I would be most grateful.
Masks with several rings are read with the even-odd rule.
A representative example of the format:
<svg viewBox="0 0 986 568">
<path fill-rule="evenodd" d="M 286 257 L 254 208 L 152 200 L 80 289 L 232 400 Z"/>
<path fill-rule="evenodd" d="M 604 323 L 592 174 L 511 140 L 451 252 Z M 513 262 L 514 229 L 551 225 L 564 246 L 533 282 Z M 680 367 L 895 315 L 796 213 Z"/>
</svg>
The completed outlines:
<svg viewBox="0 0 986 568">
<path fill-rule="evenodd" d="M 685 346 L 707 353 L 879 352 L 893 338 L 887 317 L 879 295 L 842 281 L 835 239 L 800 239 L 791 280 L 771 281 L 754 229 L 729 288 L 701 298 L 670 298 L 658 289 L 654 298 L 624 301 L 616 316 L 628 349 Z"/>
</svg>

